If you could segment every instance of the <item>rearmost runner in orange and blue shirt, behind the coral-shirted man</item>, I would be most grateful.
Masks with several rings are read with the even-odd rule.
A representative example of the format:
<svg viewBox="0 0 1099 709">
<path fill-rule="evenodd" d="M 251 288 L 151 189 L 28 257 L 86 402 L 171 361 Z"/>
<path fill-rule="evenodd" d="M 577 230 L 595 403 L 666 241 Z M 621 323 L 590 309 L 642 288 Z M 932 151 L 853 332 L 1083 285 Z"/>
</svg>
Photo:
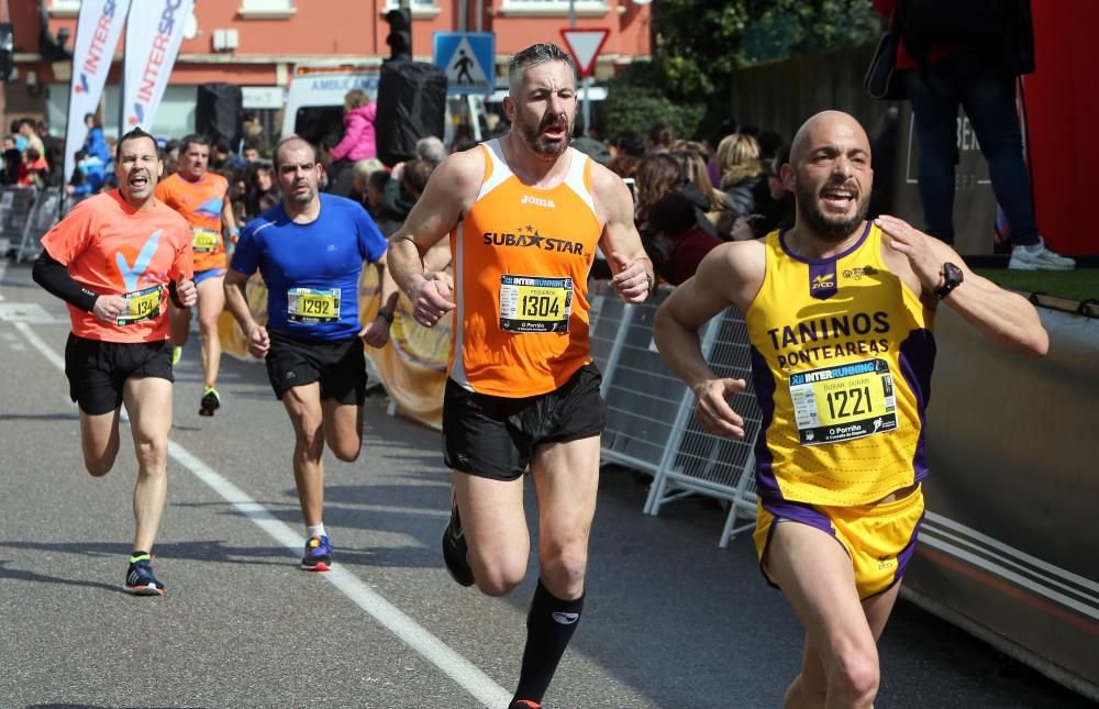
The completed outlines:
<svg viewBox="0 0 1099 709">
<path fill-rule="evenodd" d="M 218 318 L 225 307 L 225 240 L 227 231 L 235 243 L 240 230 L 233 219 L 229 199 L 229 180 L 208 173 L 210 142 L 202 135 L 188 135 L 179 143 L 178 171 L 156 186 L 156 198 L 176 210 L 191 228 L 195 252 L 195 286 L 199 291 L 199 335 L 202 339 L 202 399 L 200 416 L 213 416 L 221 407 L 218 394 L 218 368 L 221 365 L 221 339 Z M 224 230 L 222 229 L 224 226 Z M 179 348 L 187 342 L 191 326 L 189 309 L 168 306 L 171 344 L 176 346 L 173 362 L 179 359 Z"/>
</svg>

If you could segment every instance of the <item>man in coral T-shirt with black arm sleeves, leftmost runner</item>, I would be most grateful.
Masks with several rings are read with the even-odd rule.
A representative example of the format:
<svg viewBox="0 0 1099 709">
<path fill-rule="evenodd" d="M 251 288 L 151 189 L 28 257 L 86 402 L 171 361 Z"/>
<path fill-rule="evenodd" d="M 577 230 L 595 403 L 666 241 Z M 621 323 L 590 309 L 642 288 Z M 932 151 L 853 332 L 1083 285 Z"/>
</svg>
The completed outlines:
<svg viewBox="0 0 1099 709">
<path fill-rule="evenodd" d="M 115 148 L 119 189 L 79 202 L 42 239 L 34 280 L 68 303 L 69 396 L 80 407 L 84 464 L 107 475 L 125 401 L 137 456 L 134 544 L 124 590 L 159 596 L 151 568 L 167 491 L 171 347 L 167 303 L 196 302 L 187 222 L 154 197 L 164 169 L 153 136 L 134 129 Z"/>
</svg>

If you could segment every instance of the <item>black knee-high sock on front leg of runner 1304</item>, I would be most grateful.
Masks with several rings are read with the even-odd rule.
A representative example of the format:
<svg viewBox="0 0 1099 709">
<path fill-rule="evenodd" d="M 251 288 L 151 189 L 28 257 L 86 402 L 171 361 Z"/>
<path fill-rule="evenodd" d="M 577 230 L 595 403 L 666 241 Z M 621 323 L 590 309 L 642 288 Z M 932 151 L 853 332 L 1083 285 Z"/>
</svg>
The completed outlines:
<svg viewBox="0 0 1099 709">
<path fill-rule="evenodd" d="M 523 667 L 519 673 L 519 688 L 512 701 L 531 699 L 542 701 L 560 656 L 580 623 L 584 596 L 576 600 L 554 597 L 539 579 L 539 587 L 526 616 L 526 647 L 523 649 Z"/>
</svg>

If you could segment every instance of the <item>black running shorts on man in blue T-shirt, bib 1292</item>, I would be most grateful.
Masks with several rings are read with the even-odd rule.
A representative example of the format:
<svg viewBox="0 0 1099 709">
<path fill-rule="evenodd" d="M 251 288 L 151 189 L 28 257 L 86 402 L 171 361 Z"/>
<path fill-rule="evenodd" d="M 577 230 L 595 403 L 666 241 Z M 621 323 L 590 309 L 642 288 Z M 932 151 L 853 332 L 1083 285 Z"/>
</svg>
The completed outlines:
<svg viewBox="0 0 1099 709">
<path fill-rule="evenodd" d="M 275 396 L 306 384 L 321 383 L 321 398 L 340 403 L 363 405 L 366 400 L 366 354 L 358 337 L 324 342 L 299 340 L 268 331 L 267 377 Z"/>
</svg>

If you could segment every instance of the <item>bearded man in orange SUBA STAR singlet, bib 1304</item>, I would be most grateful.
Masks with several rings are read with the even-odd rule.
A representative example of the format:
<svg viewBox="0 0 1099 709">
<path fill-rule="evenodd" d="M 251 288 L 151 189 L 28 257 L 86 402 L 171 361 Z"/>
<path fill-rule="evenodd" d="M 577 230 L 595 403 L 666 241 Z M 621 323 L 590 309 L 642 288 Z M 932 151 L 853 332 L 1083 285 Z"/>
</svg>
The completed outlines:
<svg viewBox="0 0 1099 709">
<path fill-rule="evenodd" d="M 455 319 L 443 401 L 454 505 L 443 561 L 456 581 L 502 596 L 523 579 L 523 473 L 534 479 L 541 578 L 511 704 L 531 709 L 584 606 L 604 419 L 588 353 L 588 270 L 598 245 L 622 299 L 642 302 L 653 265 L 625 184 L 568 147 L 571 56 L 552 44 L 523 49 L 509 87 L 511 130 L 440 165 L 390 240 L 389 264 L 420 324 Z M 422 262 L 447 234 L 453 288 Z"/>
</svg>

